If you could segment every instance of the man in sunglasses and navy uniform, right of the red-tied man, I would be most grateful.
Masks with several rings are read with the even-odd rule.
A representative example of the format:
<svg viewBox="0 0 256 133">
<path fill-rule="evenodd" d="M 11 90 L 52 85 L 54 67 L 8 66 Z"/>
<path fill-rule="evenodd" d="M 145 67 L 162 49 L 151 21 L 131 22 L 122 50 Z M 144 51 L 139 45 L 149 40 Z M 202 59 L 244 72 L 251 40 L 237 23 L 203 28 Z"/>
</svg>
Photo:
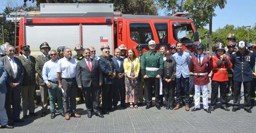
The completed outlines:
<svg viewBox="0 0 256 133">
<path fill-rule="evenodd" d="M 116 77 L 116 66 L 110 58 L 110 48 L 104 48 L 102 53 L 102 58 L 98 60 L 104 77 L 102 88 L 102 112 L 103 114 L 109 114 L 108 110 L 111 110 L 112 108 L 112 97 L 114 91 L 113 79 Z"/>
</svg>

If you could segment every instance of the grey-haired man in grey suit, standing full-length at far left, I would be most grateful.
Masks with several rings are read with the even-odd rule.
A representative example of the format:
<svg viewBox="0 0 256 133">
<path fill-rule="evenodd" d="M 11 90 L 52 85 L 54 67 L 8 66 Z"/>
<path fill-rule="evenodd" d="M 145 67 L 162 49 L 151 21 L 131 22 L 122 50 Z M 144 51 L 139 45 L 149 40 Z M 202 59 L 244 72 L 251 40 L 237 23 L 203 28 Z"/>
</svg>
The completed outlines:
<svg viewBox="0 0 256 133">
<path fill-rule="evenodd" d="M 13 122 L 24 122 L 20 119 L 20 93 L 21 83 L 23 80 L 23 66 L 21 61 L 14 57 L 14 46 L 8 46 L 5 50 L 6 56 L 1 57 L 4 68 L 7 71 L 7 93 L 5 101 L 5 109 L 8 116 L 8 125 L 14 125 Z M 11 109 L 12 105 L 12 109 Z"/>
</svg>

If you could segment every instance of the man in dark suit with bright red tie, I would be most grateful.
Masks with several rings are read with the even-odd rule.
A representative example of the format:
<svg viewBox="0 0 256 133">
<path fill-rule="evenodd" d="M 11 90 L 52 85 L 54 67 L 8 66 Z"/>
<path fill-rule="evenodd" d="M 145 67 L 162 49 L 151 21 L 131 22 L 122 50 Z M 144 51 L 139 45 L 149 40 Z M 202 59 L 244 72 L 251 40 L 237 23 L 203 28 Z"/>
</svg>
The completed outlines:
<svg viewBox="0 0 256 133">
<path fill-rule="evenodd" d="M 76 82 L 78 88 L 82 90 L 85 98 L 85 105 L 88 111 L 88 118 L 92 117 L 92 102 L 93 110 L 96 116 L 103 118 L 100 112 L 100 86 L 103 82 L 102 72 L 98 60 L 92 59 L 89 48 L 83 49 L 84 59 L 76 64 Z"/>
</svg>

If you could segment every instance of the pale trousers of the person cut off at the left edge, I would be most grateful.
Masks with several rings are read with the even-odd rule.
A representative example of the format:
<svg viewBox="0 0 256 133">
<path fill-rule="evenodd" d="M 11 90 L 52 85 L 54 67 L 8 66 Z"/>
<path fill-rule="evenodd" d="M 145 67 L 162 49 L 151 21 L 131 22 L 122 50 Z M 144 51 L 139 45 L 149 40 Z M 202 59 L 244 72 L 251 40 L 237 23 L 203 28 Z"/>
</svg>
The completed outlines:
<svg viewBox="0 0 256 133">
<path fill-rule="evenodd" d="M 0 92 L 0 124 L 1 126 L 6 125 L 8 122 L 8 117 L 5 110 L 5 93 Z"/>
</svg>

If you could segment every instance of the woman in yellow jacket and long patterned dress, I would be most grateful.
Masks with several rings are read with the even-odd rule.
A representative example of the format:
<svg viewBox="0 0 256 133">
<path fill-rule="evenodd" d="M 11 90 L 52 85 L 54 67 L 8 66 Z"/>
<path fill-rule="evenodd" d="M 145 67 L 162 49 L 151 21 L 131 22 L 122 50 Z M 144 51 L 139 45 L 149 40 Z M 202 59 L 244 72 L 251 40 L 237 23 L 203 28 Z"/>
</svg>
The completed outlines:
<svg viewBox="0 0 256 133">
<path fill-rule="evenodd" d="M 126 103 L 130 103 L 130 108 L 137 109 L 139 103 L 139 58 L 135 56 L 133 49 L 128 50 L 128 57 L 124 59 Z"/>
</svg>

